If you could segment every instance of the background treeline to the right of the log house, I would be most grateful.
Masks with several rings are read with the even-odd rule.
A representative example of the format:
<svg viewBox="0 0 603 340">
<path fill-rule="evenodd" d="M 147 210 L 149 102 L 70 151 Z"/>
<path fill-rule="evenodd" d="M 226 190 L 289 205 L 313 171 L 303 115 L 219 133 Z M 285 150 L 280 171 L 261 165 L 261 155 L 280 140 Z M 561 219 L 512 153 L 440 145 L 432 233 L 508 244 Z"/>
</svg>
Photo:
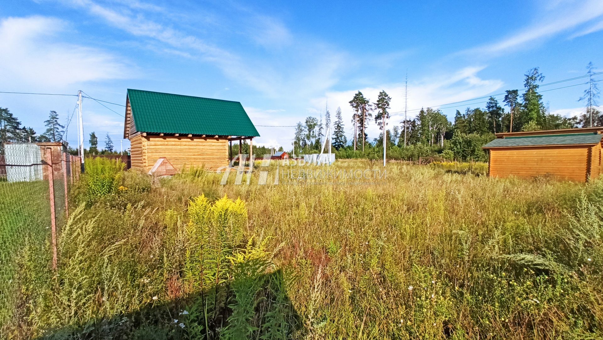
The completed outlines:
<svg viewBox="0 0 603 340">
<path fill-rule="evenodd" d="M 593 65 L 587 66 L 587 75 L 593 74 Z M 505 91 L 502 103 L 494 96 L 488 98 L 485 108 L 467 108 L 465 112 L 456 110 L 451 122 L 441 110 L 431 107 L 421 109 L 414 119 L 392 124 L 390 122 L 390 96 L 382 91 L 376 102 L 371 103 L 358 91 L 350 100 L 353 109 L 352 126 L 355 133 L 346 133 L 341 118 L 341 108 L 335 113 L 332 131 L 333 152 L 338 158 L 379 159 L 383 154 L 383 132 L 377 138 L 368 137 L 367 125 L 374 119 L 384 130 L 384 119 L 388 122 L 387 143 L 389 159 L 417 160 L 418 157 L 437 156 L 449 160 L 485 161 L 487 154 L 481 146 L 494 139 L 494 133 L 510 131 L 556 130 L 603 125 L 603 115 L 597 109 L 599 90 L 596 81 L 590 77 L 587 89 L 579 101 L 586 110 L 582 115 L 564 117 L 549 112 L 538 93 L 540 83 L 545 79 L 538 68 L 525 74 L 523 90 Z M 523 93 L 521 93 L 523 92 Z M 324 140 L 326 127 L 330 126 L 330 113 L 323 117 L 306 118 L 295 128 L 295 154 L 318 153 Z M 592 118 L 592 122 L 591 122 Z"/>
</svg>

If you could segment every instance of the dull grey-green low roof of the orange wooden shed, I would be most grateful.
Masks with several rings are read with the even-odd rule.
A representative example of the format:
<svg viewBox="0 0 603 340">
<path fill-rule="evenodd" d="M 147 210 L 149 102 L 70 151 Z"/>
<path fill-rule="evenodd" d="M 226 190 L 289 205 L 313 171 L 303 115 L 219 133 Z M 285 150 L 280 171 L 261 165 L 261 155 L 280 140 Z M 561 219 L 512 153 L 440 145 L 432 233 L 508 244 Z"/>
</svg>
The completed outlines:
<svg viewBox="0 0 603 340">
<path fill-rule="evenodd" d="M 511 146 L 543 145 L 588 145 L 601 142 L 603 135 L 596 133 L 545 134 L 540 136 L 517 136 L 497 138 L 482 148 L 504 148 Z"/>
</svg>

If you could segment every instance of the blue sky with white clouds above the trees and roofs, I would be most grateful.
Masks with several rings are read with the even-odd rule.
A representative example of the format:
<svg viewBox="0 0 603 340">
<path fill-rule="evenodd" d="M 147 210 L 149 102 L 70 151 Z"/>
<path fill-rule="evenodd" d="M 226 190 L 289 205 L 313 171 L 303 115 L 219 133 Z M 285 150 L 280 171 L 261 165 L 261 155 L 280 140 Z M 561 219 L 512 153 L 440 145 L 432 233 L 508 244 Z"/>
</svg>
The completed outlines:
<svg viewBox="0 0 603 340">
<path fill-rule="evenodd" d="M 523 87 L 535 66 L 545 83 L 603 71 L 603 1 L 236 2 L 4 0 L 0 91 L 77 93 L 124 104 L 125 89 L 240 101 L 256 125 L 295 125 L 385 89 L 392 112 Z M 599 77 L 603 78 L 603 77 Z M 569 81 L 542 90 L 579 84 Z M 544 92 L 551 112 L 579 113 L 584 86 Z M 449 118 L 464 105 L 443 109 Z M 123 115 L 124 108 L 107 104 Z M 24 125 L 42 133 L 49 110 L 66 121 L 75 97 L 0 93 Z M 84 133 L 123 118 L 86 99 Z M 394 114 L 390 122 L 403 117 Z M 256 143 L 291 145 L 293 128 L 258 127 Z M 70 141 L 77 126 L 69 125 Z M 376 137 L 379 130 L 368 130 Z M 87 139 L 87 137 L 86 137 Z M 72 142 L 72 144 L 76 144 Z M 127 142 L 124 143 L 127 146 Z"/>
</svg>

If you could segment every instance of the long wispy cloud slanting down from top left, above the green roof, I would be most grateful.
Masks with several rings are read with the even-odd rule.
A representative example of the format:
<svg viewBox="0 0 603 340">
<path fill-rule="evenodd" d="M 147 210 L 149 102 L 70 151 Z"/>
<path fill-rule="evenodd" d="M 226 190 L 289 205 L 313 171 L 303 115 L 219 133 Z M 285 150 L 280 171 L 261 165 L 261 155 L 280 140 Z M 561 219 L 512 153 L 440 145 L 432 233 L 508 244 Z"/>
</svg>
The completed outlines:
<svg viewBox="0 0 603 340">
<path fill-rule="evenodd" d="M 268 55 L 237 52 L 233 44 L 230 48 L 216 45 L 184 28 L 175 28 L 174 23 L 166 25 L 160 19 L 149 19 L 147 14 L 152 17 L 152 13 L 144 10 L 133 14 L 129 8 L 120 10 L 92 0 L 66 2 L 133 36 L 160 42 L 172 54 L 199 58 L 215 65 L 227 77 L 270 98 L 293 93 L 320 93 L 328 89 L 336 82 L 336 71 L 345 60 L 344 54 L 324 43 L 295 39 L 296 43 L 291 44 L 293 37 L 288 28 L 279 20 L 261 14 L 249 14 L 248 20 L 242 20 L 246 22 L 245 27 L 240 29 L 265 48 Z"/>
</svg>

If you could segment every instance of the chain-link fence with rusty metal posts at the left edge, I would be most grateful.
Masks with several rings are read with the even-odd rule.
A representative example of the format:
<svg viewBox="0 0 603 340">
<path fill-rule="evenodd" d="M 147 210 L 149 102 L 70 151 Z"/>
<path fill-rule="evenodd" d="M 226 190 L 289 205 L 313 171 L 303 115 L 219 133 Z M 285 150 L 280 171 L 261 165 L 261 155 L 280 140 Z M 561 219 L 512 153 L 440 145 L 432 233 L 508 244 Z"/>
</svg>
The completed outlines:
<svg viewBox="0 0 603 340">
<path fill-rule="evenodd" d="M 56 240 L 69 214 L 68 191 L 81 159 L 61 143 L 5 143 L 0 149 L 0 324 L 19 304 L 19 268 L 31 259 L 56 268 Z M 45 264 L 44 264 L 45 263 Z"/>
</svg>

